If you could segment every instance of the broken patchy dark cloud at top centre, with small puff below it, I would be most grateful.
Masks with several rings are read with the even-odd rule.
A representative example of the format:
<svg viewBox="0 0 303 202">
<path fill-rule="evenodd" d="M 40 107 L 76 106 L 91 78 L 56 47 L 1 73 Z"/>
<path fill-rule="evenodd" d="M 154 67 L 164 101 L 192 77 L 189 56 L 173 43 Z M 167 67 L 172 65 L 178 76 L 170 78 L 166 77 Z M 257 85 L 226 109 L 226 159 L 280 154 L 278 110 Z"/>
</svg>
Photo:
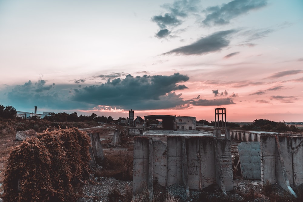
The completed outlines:
<svg viewBox="0 0 303 202">
<path fill-rule="evenodd" d="M 164 15 L 155 15 L 151 20 L 158 24 L 160 31 L 155 35 L 158 38 L 170 36 L 171 31 L 178 25 L 183 23 L 183 19 L 187 18 L 191 13 L 198 11 L 199 0 L 181 0 L 175 1 L 172 4 L 164 4 L 166 13 Z"/>
</svg>

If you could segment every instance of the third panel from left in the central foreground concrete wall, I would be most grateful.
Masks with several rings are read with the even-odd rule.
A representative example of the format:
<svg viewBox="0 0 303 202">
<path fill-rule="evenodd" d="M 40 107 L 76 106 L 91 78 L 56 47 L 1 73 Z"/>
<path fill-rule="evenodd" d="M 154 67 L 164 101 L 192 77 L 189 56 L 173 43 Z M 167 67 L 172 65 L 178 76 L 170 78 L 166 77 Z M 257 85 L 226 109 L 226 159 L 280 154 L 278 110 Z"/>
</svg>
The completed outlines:
<svg viewBox="0 0 303 202">
<path fill-rule="evenodd" d="M 167 186 L 182 184 L 181 137 L 167 137 Z"/>
</svg>

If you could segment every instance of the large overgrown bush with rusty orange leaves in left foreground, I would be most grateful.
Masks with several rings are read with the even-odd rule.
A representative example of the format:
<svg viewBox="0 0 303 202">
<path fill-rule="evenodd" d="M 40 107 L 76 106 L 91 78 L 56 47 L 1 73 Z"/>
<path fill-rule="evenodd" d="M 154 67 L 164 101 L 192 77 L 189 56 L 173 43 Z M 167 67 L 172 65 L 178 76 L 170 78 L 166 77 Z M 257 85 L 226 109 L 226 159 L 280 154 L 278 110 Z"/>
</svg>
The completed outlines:
<svg viewBox="0 0 303 202">
<path fill-rule="evenodd" d="M 89 136 L 77 128 L 46 130 L 15 147 L 2 184 L 4 201 L 75 201 L 89 176 Z"/>
</svg>

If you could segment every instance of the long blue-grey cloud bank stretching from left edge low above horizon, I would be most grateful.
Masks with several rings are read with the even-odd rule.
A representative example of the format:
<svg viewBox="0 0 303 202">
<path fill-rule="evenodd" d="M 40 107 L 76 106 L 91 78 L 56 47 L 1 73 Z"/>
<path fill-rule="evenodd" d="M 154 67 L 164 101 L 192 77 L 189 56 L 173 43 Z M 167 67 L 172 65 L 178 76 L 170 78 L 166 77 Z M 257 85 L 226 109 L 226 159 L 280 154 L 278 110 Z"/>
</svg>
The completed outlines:
<svg viewBox="0 0 303 202">
<path fill-rule="evenodd" d="M 118 75 L 118 73 L 117 73 Z M 101 79 L 111 77 L 109 75 L 98 76 Z M 112 76 L 114 77 L 114 76 Z M 136 76 L 128 74 L 125 78 L 108 78 L 100 85 L 83 86 L 84 79 L 73 80 L 74 84 L 46 85 L 46 80 L 31 81 L 23 85 L 10 86 L 8 92 L 4 93 L 6 99 L 12 106 L 23 105 L 28 108 L 39 106 L 49 109 L 185 109 L 193 106 L 220 106 L 235 104 L 232 97 L 220 99 L 194 99 L 186 100 L 177 90 L 188 89 L 183 83 L 189 77 L 180 73 L 170 76 Z M 82 85 L 79 85 L 79 82 Z M 182 84 L 178 84 L 182 83 Z M 6 89 L 8 90 L 8 89 Z M 215 95 L 218 90 L 215 90 Z M 0 92 L 1 93 L 1 92 Z M 214 93 L 214 92 L 213 92 Z M 217 93 L 218 94 L 218 93 Z M 233 93 L 234 95 L 235 93 Z M 220 96 L 227 96 L 220 93 Z M 219 95 L 217 95 L 219 96 Z"/>
</svg>

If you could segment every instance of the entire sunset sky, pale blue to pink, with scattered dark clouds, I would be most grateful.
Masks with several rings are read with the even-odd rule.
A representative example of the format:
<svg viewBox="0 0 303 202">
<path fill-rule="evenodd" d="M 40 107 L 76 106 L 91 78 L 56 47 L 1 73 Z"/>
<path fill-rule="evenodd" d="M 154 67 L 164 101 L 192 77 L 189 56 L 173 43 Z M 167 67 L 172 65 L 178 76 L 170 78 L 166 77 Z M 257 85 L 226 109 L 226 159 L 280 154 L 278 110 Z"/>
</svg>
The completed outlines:
<svg viewBox="0 0 303 202">
<path fill-rule="evenodd" d="M 303 122 L 302 0 L 0 0 L 0 104 Z"/>
</svg>

